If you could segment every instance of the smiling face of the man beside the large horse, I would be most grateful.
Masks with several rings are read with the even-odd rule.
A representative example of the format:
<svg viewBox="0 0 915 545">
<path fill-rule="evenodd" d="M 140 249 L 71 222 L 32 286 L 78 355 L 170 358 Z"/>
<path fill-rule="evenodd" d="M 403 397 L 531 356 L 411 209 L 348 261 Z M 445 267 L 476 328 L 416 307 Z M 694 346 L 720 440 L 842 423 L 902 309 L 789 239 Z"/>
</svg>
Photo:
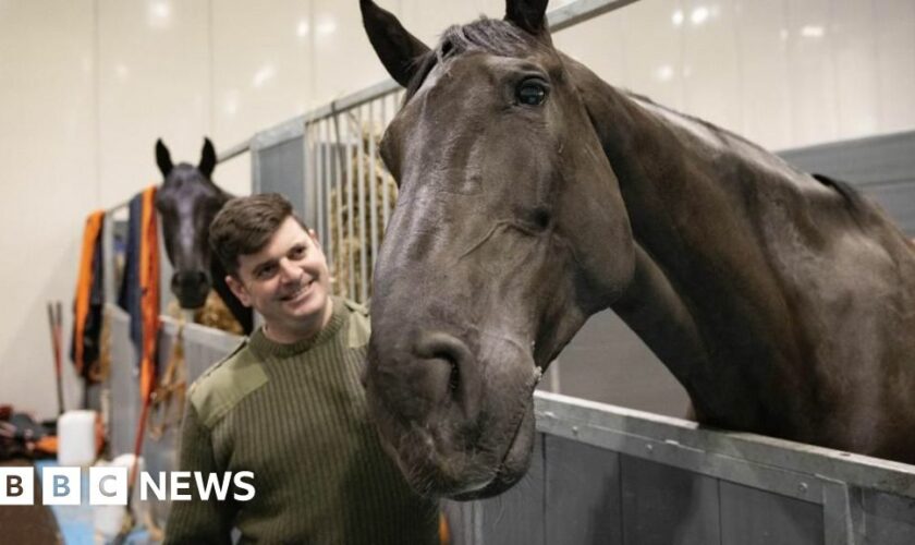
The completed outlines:
<svg viewBox="0 0 915 545">
<path fill-rule="evenodd" d="M 314 231 L 289 217 L 256 254 L 239 256 L 239 278 L 229 287 L 283 337 L 314 335 L 330 317 L 330 272 Z M 289 340 L 289 339 L 288 339 Z"/>
</svg>

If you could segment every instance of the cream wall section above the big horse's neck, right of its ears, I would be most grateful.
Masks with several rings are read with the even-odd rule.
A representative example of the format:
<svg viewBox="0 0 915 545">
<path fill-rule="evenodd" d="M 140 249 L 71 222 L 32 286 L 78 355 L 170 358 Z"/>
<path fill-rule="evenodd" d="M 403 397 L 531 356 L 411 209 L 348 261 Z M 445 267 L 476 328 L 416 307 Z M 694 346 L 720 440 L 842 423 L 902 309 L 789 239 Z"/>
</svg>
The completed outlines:
<svg viewBox="0 0 915 545">
<path fill-rule="evenodd" d="M 554 43 L 770 149 L 915 128 L 912 0 L 643 0 Z"/>
</svg>

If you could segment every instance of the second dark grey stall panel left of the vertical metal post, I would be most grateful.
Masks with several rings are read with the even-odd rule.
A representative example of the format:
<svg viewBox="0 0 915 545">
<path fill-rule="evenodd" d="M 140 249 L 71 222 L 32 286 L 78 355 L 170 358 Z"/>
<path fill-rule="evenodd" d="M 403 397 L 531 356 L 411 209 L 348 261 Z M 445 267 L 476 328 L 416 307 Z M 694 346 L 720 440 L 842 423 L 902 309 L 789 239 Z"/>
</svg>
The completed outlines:
<svg viewBox="0 0 915 545">
<path fill-rule="evenodd" d="M 713 477 L 621 456 L 625 545 L 718 545 Z"/>
</svg>

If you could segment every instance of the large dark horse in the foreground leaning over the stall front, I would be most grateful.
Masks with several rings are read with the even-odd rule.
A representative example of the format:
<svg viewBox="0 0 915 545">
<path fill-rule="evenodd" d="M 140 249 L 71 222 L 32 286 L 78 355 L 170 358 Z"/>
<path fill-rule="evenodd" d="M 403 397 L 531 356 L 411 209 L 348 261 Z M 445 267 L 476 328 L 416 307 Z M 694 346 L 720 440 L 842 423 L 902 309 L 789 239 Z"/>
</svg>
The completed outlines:
<svg viewBox="0 0 915 545">
<path fill-rule="evenodd" d="M 553 48 L 546 0 L 432 50 L 361 4 L 407 88 L 367 387 L 414 487 L 514 484 L 542 370 L 607 307 L 699 422 L 915 462 L 915 252 L 881 210 L 602 82 Z"/>
</svg>

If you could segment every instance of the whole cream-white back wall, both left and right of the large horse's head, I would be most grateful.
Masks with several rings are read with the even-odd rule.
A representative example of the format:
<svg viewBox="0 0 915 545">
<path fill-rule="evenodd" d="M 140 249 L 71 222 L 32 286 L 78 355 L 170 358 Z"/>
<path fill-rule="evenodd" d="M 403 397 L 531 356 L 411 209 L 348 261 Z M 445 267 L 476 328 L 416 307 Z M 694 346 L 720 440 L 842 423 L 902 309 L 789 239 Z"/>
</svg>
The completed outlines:
<svg viewBox="0 0 915 545">
<path fill-rule="evenodd" d="M 504 5 L 380 3 L 427 43 Z M 642 0 L 554 41 L 770 148 L 915 128 L 912 0 Z M 0 0 L 0 402 L 53 413 L 45 301 L 70 308 L 85 216 L 160 180 L 157 137 L 196 161 L 383 77 L 356 0 Z"/>
</svg>

